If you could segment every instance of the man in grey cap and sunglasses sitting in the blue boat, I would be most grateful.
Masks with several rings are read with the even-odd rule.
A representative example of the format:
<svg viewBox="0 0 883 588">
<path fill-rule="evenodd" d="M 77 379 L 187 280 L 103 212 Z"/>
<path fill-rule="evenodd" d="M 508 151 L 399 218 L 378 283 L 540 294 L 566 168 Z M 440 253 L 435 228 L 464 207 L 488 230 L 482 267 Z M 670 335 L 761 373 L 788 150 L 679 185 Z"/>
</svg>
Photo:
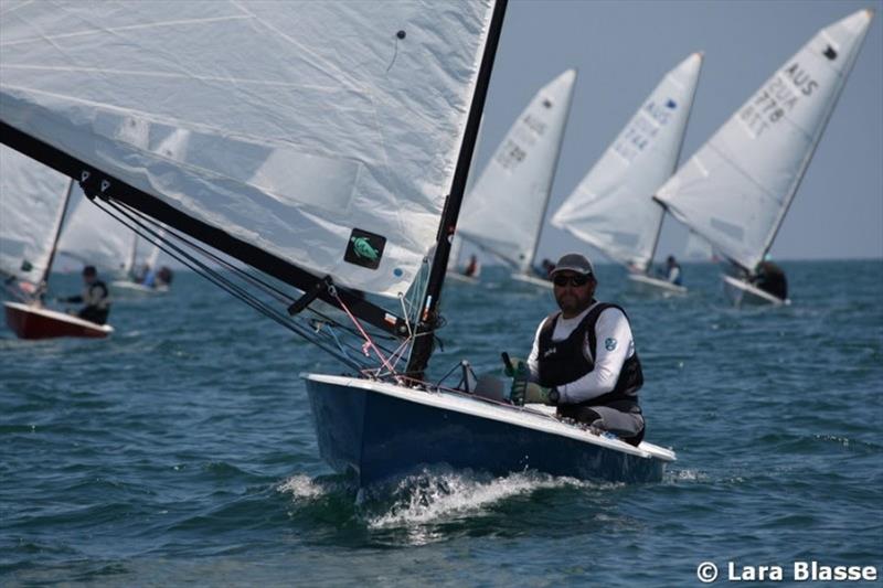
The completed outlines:
<svg viewBox="0 0 883 588">
<path fill-rule="evenodd" d="M 583 255 L 558 259 L 552 281 L 561 311 L 536 329 L 525 400 L 556 405 L 558 417 L 640 443 L 643 416 L 637 393 L 643 375 L 626 313 L 595 300 L 595 270 Z"/>
</svg>

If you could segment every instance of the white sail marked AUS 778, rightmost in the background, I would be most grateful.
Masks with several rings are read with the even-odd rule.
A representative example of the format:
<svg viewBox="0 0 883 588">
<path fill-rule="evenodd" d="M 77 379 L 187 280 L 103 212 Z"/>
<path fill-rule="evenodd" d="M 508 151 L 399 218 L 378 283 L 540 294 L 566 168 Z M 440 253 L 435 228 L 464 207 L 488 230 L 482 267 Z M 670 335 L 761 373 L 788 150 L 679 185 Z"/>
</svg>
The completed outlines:
<svg viewBox="0 0 883 588">
<path fill-rule="evenodd" d="M 819 31 L 657 192 L 743 268 L 773 244 L 871 18 L 861 10 Z"/>
</svg>

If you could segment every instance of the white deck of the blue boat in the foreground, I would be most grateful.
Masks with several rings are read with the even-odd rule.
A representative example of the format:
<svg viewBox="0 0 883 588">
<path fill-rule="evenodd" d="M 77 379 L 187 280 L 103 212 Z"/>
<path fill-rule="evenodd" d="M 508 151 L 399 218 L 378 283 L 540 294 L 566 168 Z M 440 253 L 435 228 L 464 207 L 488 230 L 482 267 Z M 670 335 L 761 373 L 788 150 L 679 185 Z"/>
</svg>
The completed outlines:
<svg viewBox="0 0 883 588">
<path fill-rule="evenodd" d="M 561 437 L 567 437 L 577 441 L 621 451 L 624 453 L 630 453 L 641 458 L 652 458 L 661 461 L 674 461 L 677 459 L 674 451 L 648 443 L 647 441 L 643 441 L 638 447 L 635 447 L 625 441 L 620 441 L 619 439 L 600 437 L 586 429 L 564 424 L 555 418 L 552 413 L 550 413 L 550 410 L 554 410 L 553 407 L 545 407 L 543 405 L 518 407 L 482 400 L 466 394 L 457 394 L 451 392 L 424 392 L 404 386 L 397 386 L 394 384 L 387 384 L 384 382 L 373 382 L 370 379 L 347 376 L 332 376 L 325 374 L 300 374 L 300 376 L 313 382 L 362 388 L 376 394 L 385 394 L 403 400 L 432 406 L 434 408 L 453 410 L 455 413 L 479 418 L 487 418 L 498 423 L 506 423 L 508 425 L 524 427 L 541 432 L 558 435 Z"/>
</svg>

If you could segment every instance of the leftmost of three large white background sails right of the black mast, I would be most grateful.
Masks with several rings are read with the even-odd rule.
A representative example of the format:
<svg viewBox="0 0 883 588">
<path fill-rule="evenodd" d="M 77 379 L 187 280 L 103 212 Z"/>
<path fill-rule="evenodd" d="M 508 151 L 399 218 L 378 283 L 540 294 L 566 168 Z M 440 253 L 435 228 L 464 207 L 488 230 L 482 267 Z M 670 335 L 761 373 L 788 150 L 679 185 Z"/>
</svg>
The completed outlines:
<svg viewBox="0 0 883 588">
<path fill-rule="evenodd" d="M 536 93 L 460 211 L 458 233 L 521 271 L 533 263 L 575 82 L 568 70 Z"/>
</svg>

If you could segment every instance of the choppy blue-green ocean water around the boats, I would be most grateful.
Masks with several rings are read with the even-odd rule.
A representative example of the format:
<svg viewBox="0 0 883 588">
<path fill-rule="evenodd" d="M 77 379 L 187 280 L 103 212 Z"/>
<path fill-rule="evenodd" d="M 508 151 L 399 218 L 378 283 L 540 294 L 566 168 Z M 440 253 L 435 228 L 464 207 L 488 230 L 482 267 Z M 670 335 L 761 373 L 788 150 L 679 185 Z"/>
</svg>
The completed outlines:
<svg viewBox="0 0 883 588">
<path fill-rule="evenodd" d="M 298 374 L 332 360 L 195 275 L 119 298 L 106 341 L 0 330 L 0 585 L 690 586 L 711 562 L 883 573 L 883 261 L 784 263 L 794 304 L 734 310 L 719 268 L 643 298 L 600 266 L 645 366 L 661 483 L 429 469 L 359 495 Z M 449 284 L 434 356 L 498 368 L 554 308 Z M 78 277 L 54 276 L 76 291 Z M 723 582 L 723 579 L 719 579 Z"/>
</svg>

